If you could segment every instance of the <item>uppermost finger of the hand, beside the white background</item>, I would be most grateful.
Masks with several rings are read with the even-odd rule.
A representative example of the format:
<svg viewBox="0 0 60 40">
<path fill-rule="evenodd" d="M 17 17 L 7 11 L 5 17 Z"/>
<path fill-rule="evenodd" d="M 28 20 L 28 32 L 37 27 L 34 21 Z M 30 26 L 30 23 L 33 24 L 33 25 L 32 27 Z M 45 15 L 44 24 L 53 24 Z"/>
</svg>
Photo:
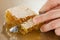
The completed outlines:
<svg viewBox="0 0 60 40">
<path fill-rule="evenodd" d="M 48 0 L 47 3 L 40 9 L 39 13 L 44 13 L 50 10 L 51 8 L 54 8 L 58 4 L 59 2 L 57 0 Z"/>
</svg>

